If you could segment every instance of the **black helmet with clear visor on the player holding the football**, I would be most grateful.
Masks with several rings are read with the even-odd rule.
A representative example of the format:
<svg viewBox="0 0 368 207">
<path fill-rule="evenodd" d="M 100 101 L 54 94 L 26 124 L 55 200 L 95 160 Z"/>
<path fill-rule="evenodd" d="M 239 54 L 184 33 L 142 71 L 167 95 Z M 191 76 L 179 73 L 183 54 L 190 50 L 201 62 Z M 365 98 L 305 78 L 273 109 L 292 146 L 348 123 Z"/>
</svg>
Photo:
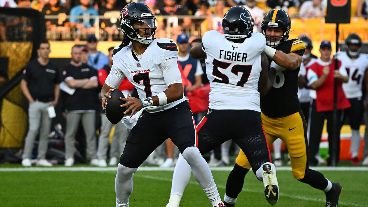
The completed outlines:
<svg viewBox="0 0 368 207">
<path fill-rule="evenodd" d="M 142 2 L 128 3 L 120 14 L 121 31 L 124 35 L 127 35 L 130 39 L 139 41 L 142 44 L 148 44 L 155 39 L 155 20 L 151 10 Z M 147 25 L 146 28 L 139 29 L 151 29 L 151 35 L 148 37 L 141 37 L 138 34 L 139 29 L 134 28 L 133 24 L 137 22 L 143 22 Z"/>
</svg>

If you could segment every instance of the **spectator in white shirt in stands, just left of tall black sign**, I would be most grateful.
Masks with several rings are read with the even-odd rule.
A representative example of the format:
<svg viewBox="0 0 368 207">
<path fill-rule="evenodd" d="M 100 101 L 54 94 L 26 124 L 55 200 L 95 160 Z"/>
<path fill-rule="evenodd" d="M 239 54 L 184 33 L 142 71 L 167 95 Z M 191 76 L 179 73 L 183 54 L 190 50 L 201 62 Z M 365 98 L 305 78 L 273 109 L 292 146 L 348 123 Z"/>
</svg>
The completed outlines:
<svg viewBox="0 0 368 207">
<path fill-rule="evenodd" d="M 321 5 L 321 0 L 308 0 L 299 8 L 300 18 L 312 18 L 312 17 L 322 17 L 325 9 Z"/>
</svg>

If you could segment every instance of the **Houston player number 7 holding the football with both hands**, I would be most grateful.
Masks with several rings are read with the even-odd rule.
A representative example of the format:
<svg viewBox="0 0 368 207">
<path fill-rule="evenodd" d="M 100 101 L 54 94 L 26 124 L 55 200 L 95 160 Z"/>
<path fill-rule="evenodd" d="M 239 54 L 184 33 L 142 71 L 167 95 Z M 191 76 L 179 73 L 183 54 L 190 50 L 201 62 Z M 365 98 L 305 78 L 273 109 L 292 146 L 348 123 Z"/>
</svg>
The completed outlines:
<svg viewBox="0 0 368 207">
<path fill-rule="evenodd" d="M 133 190 L 133 174 L 142 162 L 171 138 L 188 161 L 212 206 L 224 206 L 211 171 L 197 148 L 197 132 L 192 112 L 183 95 L 183 84 L 173 40 L 155 39 L 155 17 L 140 2 L 129 3 L 120 14 L 124 39 L 113 51 L 113 66 L 102 87 L 100 99 L 117 88 L 124 77 L 137 88 L 139 97 L 120 98 L 130 106 L 124 113 L 144 107 L 132 128 L 120 157 L 115 179 L 116 206 L 128 207 Z M 129 43 L 129 42 L 132 43 Z"/>
</svg>

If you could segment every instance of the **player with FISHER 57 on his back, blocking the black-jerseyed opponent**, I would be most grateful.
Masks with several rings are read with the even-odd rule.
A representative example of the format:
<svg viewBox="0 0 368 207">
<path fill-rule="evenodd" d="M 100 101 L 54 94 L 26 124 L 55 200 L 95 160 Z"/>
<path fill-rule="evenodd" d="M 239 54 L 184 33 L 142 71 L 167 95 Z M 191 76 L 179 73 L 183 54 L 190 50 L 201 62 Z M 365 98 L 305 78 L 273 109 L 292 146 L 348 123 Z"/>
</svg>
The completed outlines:
<svg viewBox="0 0 368 207">
<path fill-rule="evenodd" d="M 204 154 L 233 139 L 250 157 L 257 178 L 263 180 L 266 199 L 275 204 L 279 190 L 262 127 L 259 95 L 272 87 L 276 73 L 268 79 L 268 60 L 262 54 L 266 39 L 261 33 L 252 33 L 253 25 L 247 9 L 231 7 L 222 20 L 224 34 L 208 31 L 202 37 L 202 44 L 190 51 L 194 58 L 206 57 L 211 85 L 209 109 L 197 125 L 198 148 Z M 190 175 L 190 166 L 179 157 L 166 207 L 179 206 Z"/>
</svg>

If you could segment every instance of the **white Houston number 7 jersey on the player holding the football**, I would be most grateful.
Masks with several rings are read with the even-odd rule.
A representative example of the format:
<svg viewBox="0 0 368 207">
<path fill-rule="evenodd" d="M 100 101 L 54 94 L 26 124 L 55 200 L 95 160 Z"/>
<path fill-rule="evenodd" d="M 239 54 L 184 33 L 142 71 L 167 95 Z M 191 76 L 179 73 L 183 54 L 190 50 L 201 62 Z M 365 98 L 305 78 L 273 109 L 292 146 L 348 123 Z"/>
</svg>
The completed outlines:
<svg viewBox="0 0 368 207">
<path fill-rule="evenodd" d="M 127 77 L 137 88 L 139 98 L 153 97 L 168 86 L 182 83 L 177 63 L 177 47 L 172 39 L 154 39 L 142 55 L 135 55 L 132 43 L 124 48 L 116 46 L 113 51 L 113 66 L 105 84 L 118 88 L 121 80 Z M 140 58 L 140 59 L 139 59 Z M 159 112 L 176 106 L 185 99 L 164 106 L 146 107 L 148 112 Z"/>
</svg>

